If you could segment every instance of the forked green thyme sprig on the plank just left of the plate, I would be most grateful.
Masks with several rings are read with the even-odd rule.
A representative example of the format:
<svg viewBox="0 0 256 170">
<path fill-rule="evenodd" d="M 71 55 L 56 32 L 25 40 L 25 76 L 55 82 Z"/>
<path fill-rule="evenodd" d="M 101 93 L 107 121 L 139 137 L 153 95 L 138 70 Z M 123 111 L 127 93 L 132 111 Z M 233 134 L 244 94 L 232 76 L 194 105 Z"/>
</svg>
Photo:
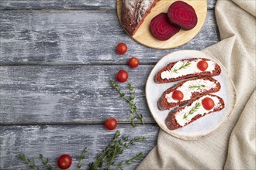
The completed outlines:
<svg viewBox="0 0 256 170">
<path fill-rule="evenodd" d="M 120 97 L 123 97 L 124 100 L 126 100 L 126 102 L 128 104 L 130 104 L 131 106 L 131 109 L 130 109 L 130 120 L 131 120 L 131 124 L 133 125 L 133 128 L 136 127 L 136 124 L 134 123 L 134 119 L 135 117 L 133 117 L 133 114 L 135 113 L 137 115 L 137 118 L 140 119 L 140 122 L 142 124 L 144 124 L 144 120 L 143 120 L 143 116 L 142 114 L 140 114 L 137 110 L 137 106 L 136 104 L 134 103 L 134 98 L 135 98 L 135 92 L 133 90 L 133 86 L 131 83 L 128 83 L 128 87 L 129 87 L 129 91 L 130 91 L 130 99 L 128 99 L 126 97 L 126 95 L 124 93 L 122 93 L 122 91 L 120 90 L 120 88 L 118 87 L 118 85 L 112 80 L 110 79 L 109 80 L 110 82 L 110 85 L 112 88 L 116 89 L 116 91 L 120 94 Z"/>
</svg>

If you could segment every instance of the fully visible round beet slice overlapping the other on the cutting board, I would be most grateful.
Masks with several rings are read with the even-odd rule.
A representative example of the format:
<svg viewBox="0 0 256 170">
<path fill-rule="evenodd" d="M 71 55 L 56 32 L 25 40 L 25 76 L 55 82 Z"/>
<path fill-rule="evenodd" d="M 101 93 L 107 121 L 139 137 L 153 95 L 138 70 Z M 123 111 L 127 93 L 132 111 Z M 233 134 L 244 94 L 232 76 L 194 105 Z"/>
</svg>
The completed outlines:
<svg viewBox="0 0 256 170">
<path fill-rule="evenodd" d="M 174 2 L 168 8 L 168 22 L 181 29 L 193 29 L 197 24 L 195 9 L 182 1 Z"/>
</svg>

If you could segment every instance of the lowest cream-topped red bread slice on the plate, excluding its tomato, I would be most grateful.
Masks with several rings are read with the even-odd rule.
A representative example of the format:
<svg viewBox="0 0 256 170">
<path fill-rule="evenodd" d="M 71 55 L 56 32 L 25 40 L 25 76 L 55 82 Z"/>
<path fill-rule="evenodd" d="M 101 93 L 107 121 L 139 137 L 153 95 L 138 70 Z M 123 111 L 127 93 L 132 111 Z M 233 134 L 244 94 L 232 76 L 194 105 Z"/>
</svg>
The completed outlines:
<svg viewBox="0 0 256 170">
<path fill-rule="evenodd" d="M 214 107 L 211 110 L 206 110 L 202 106 L 202 100 L 206 97 L 214 100 Z M 182 128 L 188 124 L 191 124 L 193 121 L 198 120 L 200 117 L 205 116 L 206 114 L 223 110 L 224 107 L 225 104 L 221 97 L 213 94 L 201 96 L 195 100 L 191 100 L 189 104 L 186 104 L 183 107 L 178 107 L 176 110 L 171 111 L 168 114 L 168 117 L 165 119 L 165 125 L 171 131 L 177 128 Z"/>
</svg>

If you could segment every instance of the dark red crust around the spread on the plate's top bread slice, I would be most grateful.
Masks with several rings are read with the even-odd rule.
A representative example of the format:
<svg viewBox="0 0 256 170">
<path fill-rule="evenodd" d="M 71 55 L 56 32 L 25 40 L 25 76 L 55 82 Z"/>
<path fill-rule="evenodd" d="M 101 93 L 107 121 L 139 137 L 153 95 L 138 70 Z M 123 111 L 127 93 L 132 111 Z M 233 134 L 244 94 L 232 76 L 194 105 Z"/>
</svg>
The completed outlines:
<svg viewBox="0 0 256 170">
<path fill-rule="evenodd" d="M 182 59 L 182 60 L 179 60 L 179 61 L 188 61 L 189 62 L 189 61 L 194 61 L 196 59 L 202 59 L 202 60 L 205 60 L 205 61 L 212 61 L 211 59 L 205 59 L 205 58 Z M 155 82 L 156 83 L 168 83 L 168 82 L 174 82 L 174 81 L 178 81 L 178 80 L 182 80 L 182 79 L 186 79 L 186 78 L 191 78 L 191 77 L 196 77 L 196 76 L 218 76 L 221 73 L 221 68 L 220 68 L 219 64 L 217 64 L 215 62 L 216 65 L 215 65 L 215 68 L 213 70 L 213 73 L 210 73 L 209 71 L 202 71 L 200 73 L 191 73 L 191 74 L 187 74 L 187 75 L 184 75 L 184 76 L 178 76 L 176 78 L 171 78 L 171 79 L 161 79 L 161 73 L 164 72 L 164 71 L 167 71 L 167 70 L 171 70 L 171 68 L 175 65 L 175 63 L 177 63 L 179 61 L 172 62 L 172 63 L 169 63 L 168 66 L 164 66 L 164 68 L 161 69 L 156 74 L 156 76 L 154 77 Z"/>
</svg>

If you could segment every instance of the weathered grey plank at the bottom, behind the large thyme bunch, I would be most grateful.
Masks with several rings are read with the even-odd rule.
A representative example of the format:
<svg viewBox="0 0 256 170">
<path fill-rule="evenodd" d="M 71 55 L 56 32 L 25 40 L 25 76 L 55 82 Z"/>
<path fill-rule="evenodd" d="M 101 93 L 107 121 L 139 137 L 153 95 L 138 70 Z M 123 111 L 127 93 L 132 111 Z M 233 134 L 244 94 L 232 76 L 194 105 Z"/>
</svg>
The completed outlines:
<svg viewBox="0 0 256 170">
<path fill-rule="evenodd" d="M 130 138 L 144 136 L 147 141 L 137 143 L 119 156 L 116 163 L 125 161 L 133 155 L 143 152 L 144 155 L 156 145 L 158 127 L 156 124 L 146 124 L 137 128 L 122 124 L 117 127 L 123 136 Z M 147 133 L 145 133 L 147 131 Z M 45 169 L 38 158 L 43 154 L 49 158 L 50 165 L 57 168 L 57 158 L 62 154 L 72 156 L 70 169 L 77 169 L 79 156 L 83 148 L 88 147 L 85 161 L 81 169 L 95 161 L 96 155 L 111 141 L 116 131 L 106 131 L 102 125 L 57 125 L 57 126 L 2 126 L 0 127 L 0 169 L 28 169 L 17 158 L 19 153 L 35 159 L 40 169 Z M 126 166 L 124 169 L 134 169 L 139 162 Z"/>
</svg>

